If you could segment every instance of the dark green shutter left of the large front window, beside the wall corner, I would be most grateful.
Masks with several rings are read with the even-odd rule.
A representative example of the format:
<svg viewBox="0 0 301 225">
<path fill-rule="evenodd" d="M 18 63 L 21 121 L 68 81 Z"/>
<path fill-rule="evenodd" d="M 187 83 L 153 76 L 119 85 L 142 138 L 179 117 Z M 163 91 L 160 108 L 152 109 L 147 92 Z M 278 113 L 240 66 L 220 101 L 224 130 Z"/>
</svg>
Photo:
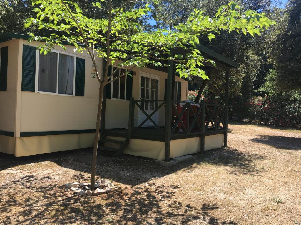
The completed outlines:
<svg viewBox="0 0 301 225">
<path fill-rule="evenodd" d="M 22 91 L 35 91 L 36 47 L 23 45 Z"/>
</svg>

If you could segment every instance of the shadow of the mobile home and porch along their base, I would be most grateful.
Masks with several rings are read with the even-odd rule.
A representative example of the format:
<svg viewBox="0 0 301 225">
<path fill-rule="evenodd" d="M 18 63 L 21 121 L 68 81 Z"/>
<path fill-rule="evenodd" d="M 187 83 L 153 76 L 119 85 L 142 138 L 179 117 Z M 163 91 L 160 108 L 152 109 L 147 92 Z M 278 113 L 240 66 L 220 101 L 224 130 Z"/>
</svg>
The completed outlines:
<svg viewBox="0 0 301 225">
<path fill-rule="evenodd" d="M 34 156 L 34 158 L 24 157 L 24 161 L 11 156 L 8 156 L 6 159 L 2 157 L 2 159 L 0 158 L 0 169 L 4 170 L 20 164 L 51 161 L 61 167 L 89 174 L 91 173 L 91 166 L 76 161 L 77 157 L 88 154 L 90 154 L 89 151 L 58 152 L 56 154 L 40 155 L 40 158 L 38 156 Z M 112 160 L 102 165 L 97 165 L 96 176 L 112 179 L 115 182 L 134 187 L 138 184 L 176 173 L 179 170 L 201 169 L 203 164 L 224 165 L 227 167 L 225 170 L 228 170 L 228 173 L 232 175 L 249 174 L 260 176 L 260 172 L 263 169 L 257 168 L 255 162 L 265 159 L 262 155 L 241 152 L 233 148 L 209 150 L 204 154 L 194 155 L 196 156 L 195 160 L 181 162 L 171 167 L 162 167 L 147 158 L 123 155 L 119 160 Z M 82 173 L 75 175 L 72 180 L 89 180 Z"/>
</svg>

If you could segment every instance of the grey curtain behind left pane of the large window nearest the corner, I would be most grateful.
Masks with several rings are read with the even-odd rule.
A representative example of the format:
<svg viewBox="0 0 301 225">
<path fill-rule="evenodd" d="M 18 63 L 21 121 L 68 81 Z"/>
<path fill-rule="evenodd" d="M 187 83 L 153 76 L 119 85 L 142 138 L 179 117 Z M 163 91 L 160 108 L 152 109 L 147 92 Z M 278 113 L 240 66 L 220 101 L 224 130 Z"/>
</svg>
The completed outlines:
<svg viewBox="0 0 301 225">
<path fill-rule="evenodd" d="M 57 86 L 57 53 L 39 55 L 38 90 L 56 93 Z"/>
</svg>

